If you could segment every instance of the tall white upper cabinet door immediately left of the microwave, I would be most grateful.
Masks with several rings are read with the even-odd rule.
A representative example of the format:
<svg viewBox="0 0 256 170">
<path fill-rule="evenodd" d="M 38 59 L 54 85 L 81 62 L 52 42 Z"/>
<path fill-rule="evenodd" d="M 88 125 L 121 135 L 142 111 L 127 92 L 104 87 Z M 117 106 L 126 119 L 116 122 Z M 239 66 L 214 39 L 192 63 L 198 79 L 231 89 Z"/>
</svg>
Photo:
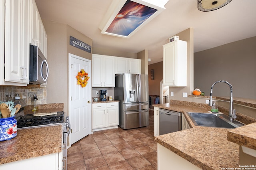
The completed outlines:
<svg viewBox="0 0 256 170">
<path fill-rule="evenodd" d="M 5 2 L 4 55 L 5 61 L 1 64 L 4 64 L 2 67 L 4 67 L 5 74 L 4 79 L 1 80 L 4 82 L 1 84 L 26 86 L 29 83 L 28 0 L 7 0 Z M 6 81 L 18 84 L 5 83 Z"/>
</svg>

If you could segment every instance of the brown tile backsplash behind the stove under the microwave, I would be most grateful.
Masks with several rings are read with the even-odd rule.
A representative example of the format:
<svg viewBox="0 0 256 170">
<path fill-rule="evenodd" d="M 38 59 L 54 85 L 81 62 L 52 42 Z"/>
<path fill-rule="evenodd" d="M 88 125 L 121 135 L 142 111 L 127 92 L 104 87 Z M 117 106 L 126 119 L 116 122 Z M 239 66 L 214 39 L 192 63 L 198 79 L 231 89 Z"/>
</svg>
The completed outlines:
<svg viewBox="0 0 256 170">
<path fill-rule="evenodd" d="M 0 101 L 6 100 L 6 95 L 20 94 L 27 105 L 31 105 L 34 94 L 37 95 L 38 104 L 46 104 L 46 87 L 19 87 L 19 86 L 0 86 Z"/>
</svg>

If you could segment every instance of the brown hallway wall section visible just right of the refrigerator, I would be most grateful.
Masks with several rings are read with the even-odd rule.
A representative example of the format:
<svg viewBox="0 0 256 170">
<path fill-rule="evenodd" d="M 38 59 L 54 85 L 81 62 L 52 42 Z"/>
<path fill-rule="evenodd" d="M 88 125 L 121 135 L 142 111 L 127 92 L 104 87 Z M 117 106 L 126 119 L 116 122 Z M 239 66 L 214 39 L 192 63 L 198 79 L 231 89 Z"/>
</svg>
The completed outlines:
<svg viewBox="0 0 256 170">
<path fill-rule="evenodd" d="M 154 80 L 151 70 L 154 69 Z M 160 81 L 163 79 L 163 61 L 148 65 L 148 94 L 160 96 Z"/>
</svg>

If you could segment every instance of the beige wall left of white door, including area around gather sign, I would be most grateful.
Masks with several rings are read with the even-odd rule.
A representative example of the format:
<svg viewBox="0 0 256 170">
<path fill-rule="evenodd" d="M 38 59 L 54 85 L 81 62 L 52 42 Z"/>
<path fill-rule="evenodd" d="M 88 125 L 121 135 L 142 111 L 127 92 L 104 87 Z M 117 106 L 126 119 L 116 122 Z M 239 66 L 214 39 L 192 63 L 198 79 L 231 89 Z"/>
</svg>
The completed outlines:
<svg viewBox="0 0 256 170">
<path fill-rule="evenodd" d="M 68 111 L 68 53 L 92 59 L 88 53 L 69 44 L 70 36 L 92 46 L 92 40 L 74 28 L 56 22 L 44 20 L 47 33 L 47 61 L 49 77 L 47 81 L 47 103 L 64 103 Z"/>
</svg>

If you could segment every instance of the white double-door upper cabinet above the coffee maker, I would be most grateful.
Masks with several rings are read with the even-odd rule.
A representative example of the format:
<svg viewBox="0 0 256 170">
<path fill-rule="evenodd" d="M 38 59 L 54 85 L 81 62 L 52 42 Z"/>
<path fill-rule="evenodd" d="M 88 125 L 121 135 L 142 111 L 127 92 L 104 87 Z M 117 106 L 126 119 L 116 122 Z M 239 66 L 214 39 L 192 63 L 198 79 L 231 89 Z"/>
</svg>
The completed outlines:
<svg viewBox="0 0 256 170">
<path fill-rule="evenodd" d="M 92 54 L 92 87 L 115 87 L 115 57 Z"/>
</svg>

